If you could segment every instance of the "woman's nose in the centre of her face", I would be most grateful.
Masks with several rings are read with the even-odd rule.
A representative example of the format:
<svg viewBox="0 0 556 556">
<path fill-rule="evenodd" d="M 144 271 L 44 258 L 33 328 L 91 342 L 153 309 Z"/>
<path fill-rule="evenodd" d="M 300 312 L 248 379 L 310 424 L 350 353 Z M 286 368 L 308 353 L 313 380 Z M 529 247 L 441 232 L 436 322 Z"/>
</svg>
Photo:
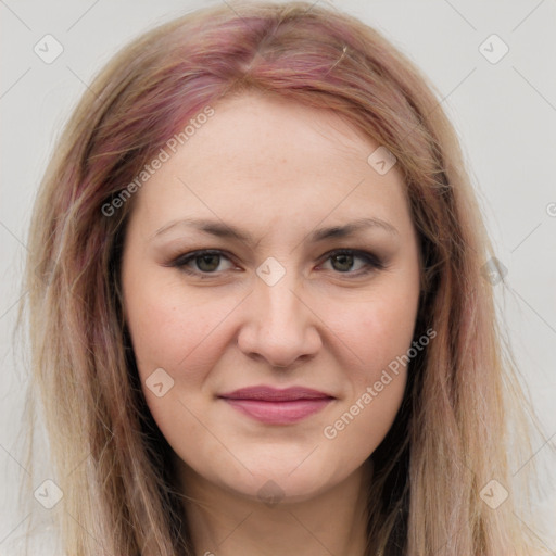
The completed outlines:
<svg viewBox="0 0 556 556">
<path fill-rule="evenodd" d="M 274 286 L 257 278 L 245 300 L 245 318 L 238 336 L 243 353 L 263 358 L 271 367 L 290 368 L 306 362 L 323 345 L 318 307 L 307 304 L 290 275 L 286 273 Z"/>
</svg>

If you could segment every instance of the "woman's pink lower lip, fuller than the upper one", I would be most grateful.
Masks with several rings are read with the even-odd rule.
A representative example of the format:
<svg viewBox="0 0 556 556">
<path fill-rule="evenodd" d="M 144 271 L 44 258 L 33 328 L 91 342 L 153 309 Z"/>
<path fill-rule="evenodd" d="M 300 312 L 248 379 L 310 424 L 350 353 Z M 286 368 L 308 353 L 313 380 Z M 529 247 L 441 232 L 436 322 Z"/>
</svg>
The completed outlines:
<svg viewBox="0 0 556 556">
<path fill-rule="evenodd" d="M 330 397 L 318 400 L 293 400 L 289 402 L 264 402 L 261 400 L 224 399 L 235 409 L 242 412 L 262 422 L 288 425 L 298 422 L 324 409 L 331 401 Z"/>
</svg>

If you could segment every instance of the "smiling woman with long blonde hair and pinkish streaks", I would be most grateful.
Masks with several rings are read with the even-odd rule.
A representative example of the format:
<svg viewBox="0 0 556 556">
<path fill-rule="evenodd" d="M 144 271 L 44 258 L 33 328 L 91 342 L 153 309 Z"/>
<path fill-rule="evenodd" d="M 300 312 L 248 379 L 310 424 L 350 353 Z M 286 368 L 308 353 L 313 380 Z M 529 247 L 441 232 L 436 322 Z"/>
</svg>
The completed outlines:
<svg viewBox="0 0 556 556">
<path fill-rule="evenodd" d="M 495 260 L 408 60 L 224 5 L 90 88 L 28 260 L 67 554 L 536 554 Z"/>
</svg>

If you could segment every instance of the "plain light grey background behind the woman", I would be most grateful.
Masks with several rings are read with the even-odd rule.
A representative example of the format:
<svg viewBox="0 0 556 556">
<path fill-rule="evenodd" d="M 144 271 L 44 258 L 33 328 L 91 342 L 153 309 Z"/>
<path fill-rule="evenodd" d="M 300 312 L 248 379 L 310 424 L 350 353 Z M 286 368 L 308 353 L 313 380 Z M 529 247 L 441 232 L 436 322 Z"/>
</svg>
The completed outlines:
<svg viewBox="0 0 556 556">
<path fill-rule="evenodd" d="M 323 0 L 325 1 L 325 0 Z M 16 504 L 25 363 L 13 326 L 30 207 L 54 140 L 99 68 L 129 39 L 218 2 L 0 0 L 0 555 L 18 553 L 28 514 Z M 556 554 L 556 2 L 334 0 L 381 30 L 429 76 L 460 136 L 507 287 L 497 288 L 523 383 L 544 426 L 539 518 L 528 526 Z M 51 64 L 35 45 L 51 34 Z M 503 45 L 509 48 L 497 63 Z M 492 52 L 488 52 L 488 51 Z M 52 50 L 50 50 L 52 52 Z M 20 440 L 18 440 L 20 439 Z M 45 471 L 45 479 L 48 471 Z M 40 481 L 37 483 L 40 483 Z M 48 532 L 52 514 L 36 504 Z M 39 529 L 39 533 L 42 529 Z M 59 554 L 41 544 L 34 554 Z"/>
</svg>

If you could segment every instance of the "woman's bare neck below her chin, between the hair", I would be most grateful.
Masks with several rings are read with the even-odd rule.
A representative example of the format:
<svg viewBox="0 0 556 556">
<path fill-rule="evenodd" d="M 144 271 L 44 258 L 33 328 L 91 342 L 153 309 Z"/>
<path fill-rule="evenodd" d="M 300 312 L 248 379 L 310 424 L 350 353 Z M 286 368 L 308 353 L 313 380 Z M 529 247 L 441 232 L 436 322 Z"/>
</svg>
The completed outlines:
<svg viewBox="0 0 556 556">
<path fill-rule="evenodd" d="M 311 500 L 265 504 L 222 489 L 181 464 L 195 556 L 364 556 L 370 476 L 365 464 Z"/>
</svg>

